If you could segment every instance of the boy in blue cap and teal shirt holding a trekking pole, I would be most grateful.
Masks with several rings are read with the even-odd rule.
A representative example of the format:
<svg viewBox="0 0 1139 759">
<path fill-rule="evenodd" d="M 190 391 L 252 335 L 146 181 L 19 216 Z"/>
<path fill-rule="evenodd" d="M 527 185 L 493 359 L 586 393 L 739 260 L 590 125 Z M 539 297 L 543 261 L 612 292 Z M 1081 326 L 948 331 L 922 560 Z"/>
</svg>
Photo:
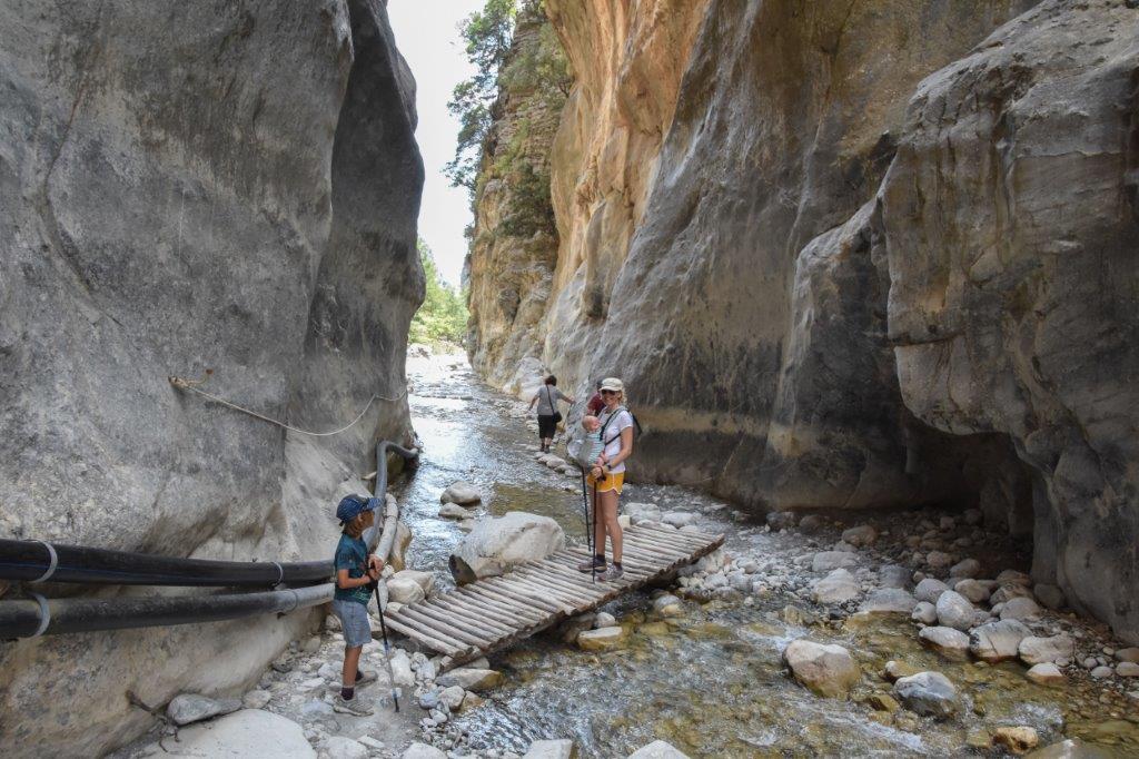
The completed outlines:
<svg viewBox="0 0 1139 759">
<path fill-rule="evenodd" d="M 345 496 L 336 507 L 336 519 L 341 521 L 344 532 L 333 560 L 336 570 L 333 612 L 339 618 L 344 630 L 344 669 L 341 674 L 341 693 L 336 696 L 333 709 L 357 717 L 366 717 L 372 712 L 370 707 L 355 702 L 357 686 L 375 683 L 377 678 L 374 671 L 360 671 L 359 664 L 363 644 L 371 640 L 368 601 L 375 583 L 379 581 L 379 572 L 384 569 L 379 556 L 368 555 L 368 546 L 360 536 L 375 522 L 378 506 L 379 498 Z"/>
</svg>

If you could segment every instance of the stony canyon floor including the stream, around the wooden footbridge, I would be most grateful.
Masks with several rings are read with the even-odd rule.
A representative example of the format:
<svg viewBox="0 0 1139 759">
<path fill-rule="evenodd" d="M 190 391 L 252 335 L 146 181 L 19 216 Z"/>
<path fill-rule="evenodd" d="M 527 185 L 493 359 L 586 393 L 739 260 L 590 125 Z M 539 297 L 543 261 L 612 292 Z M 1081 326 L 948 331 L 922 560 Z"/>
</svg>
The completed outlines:
<svg viewBox="0 0 1139 759">
<path fill-rule="evenodd" d="M 535 460 L 525 403 L 487 389 L 457 356 L 409 358 L 409 379 L 425 455 L 393 492 L 415 536 L 410 568 L 434 573 L 436 588 L 451 585 L 446 558 L 465 530 L 439 516 L 439 496 L 458 480 L 480 489 L 476 516 L 542 513 L 557 519 L 568 539 L 584 541 L 576 475 Z M 366 648 L 364 663 L 382 672 L 380 682 L 361 692 L 376 712 L 355 718 L 331 711 L 343 639 L 330 627 L 295 642 L 245 694 L 246 709 L 220 720 L 279 716 L 296 729 L 278 724 L 274 740 L 293 735 L 295 745 L 274 750 L 329 759 L 440 756 L 433 750 L 501 758 L 557 738 L 573 741 L 581 757 L 623 757 L 657 740 L 690 757 L 1006 756 L 1064 740 L 1101 756 L 1139 754 L 1139 677 L 1125 676 L 1126 652 L 1134 650 L 1072 613 L 1011 603 L 1033 596 L 1022 574 L 1023 546 L 989 534 L 974 514 L 779 515 L 769 524 L 704 493 L 655 484 L 628 485 L 622 505 L 634 521 L 691 523 L 723 532 L 727 541 L 672 587 L 607 606 L 622 629 L 613 647 L 574 645 L 576 632 L 593 623 L 581 620 L 492 656 L 489 667 L 501 683 L 472 686 L 478 695 L 459 688 L 454 697 L 453 687 L 443 691 L 445 680 L 435 682 L 427 656 L 403 643 L 395 715 L 377 642 Z M 966 602 L 974 617 L 956 635 L 937 619 L 947 604 L 936 602 L 950 585 L 980 594 L 975 605 Z M 911 612 L 923 597 L 932 598 L 929 607 Z M 911 618 L 929 609 L 932 619 Z M 1015 645 L 995 663 L 962 648 L 968 629 L 1001 617 L 1005 627 L 1015 620 L 1034 638 L 1071 640 L 1052 683 L 1030 679 Z M 839 697 L 817 695 L 788 671 L 784 651 L 801 638 L 849 653 L 857 676 Z M 923 671 L 948 679 L 949 713 L 923 716 L 929 711 L 923 694 L 900 693 L 895 679 Z M 451 705 L 441 707 L 448 699 Z M 120 756 L 194 754 L 195 741 L 220 720 L 159 728 L 166 733 L 161 742 L 153 735 Z M 248 736 L 259 728 L 245 729 Z"/>
</svg>

